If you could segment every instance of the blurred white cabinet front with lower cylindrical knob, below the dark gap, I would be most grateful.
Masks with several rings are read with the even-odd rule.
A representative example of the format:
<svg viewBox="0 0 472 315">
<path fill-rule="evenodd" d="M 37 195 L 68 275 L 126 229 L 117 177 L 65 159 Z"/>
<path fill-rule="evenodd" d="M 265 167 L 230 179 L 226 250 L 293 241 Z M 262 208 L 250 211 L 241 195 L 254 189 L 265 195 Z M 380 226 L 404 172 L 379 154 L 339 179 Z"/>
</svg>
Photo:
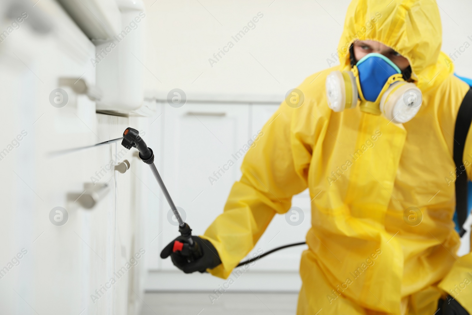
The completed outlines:
<svg viewBox="0 0 472 315">
<path fill-rule="evenodd" d="M 100 182 L 108 183 L 109 192 L 92 209 L 67 199 L 70 193 L 88 194 L 84 183 L 107 168 L 110 151 L 110 145 L 101 145 L 34 160 L 34 143 L 25 142 L 15 159 L 2 161 L 8 163 L 2 163 L 0 174 L 9 180 L 1 198 L 10 209 L 2 221 L 9 239 L 2 261 L 26 252 L 2 278 L 0 304 L 8 314 L 30 314 L 33 308 L 40 314 L 98 315 L 114 309 L 114 288 L 102 287 L 114 277 L 113 172 L 102 171 Z"/>
</svg>

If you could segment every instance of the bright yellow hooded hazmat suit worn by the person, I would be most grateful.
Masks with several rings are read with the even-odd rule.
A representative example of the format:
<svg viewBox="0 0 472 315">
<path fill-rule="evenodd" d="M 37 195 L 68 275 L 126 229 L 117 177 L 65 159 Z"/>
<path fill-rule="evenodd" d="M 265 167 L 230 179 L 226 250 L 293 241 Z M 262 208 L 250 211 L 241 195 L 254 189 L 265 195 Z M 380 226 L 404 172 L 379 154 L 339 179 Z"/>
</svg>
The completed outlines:
<svg viewBox="0 0 472 315">
<path fill-rule="evenodd" d="M 221 257 L 213 275 L 228 277 L 273 216 L 309 187 L 312 198 L 321 193 L 312 200 L 297 314 L 432 315 L 446 293 L 472 314 L 472 254 L 456 256 L 452 221 L 455 119 L 469 87 L 440 52 L 441 32 L 434 0 L 349 5 L 341 66 L 308 77 L 298 87 L 300 107 L 280 105 L 247 152 L 224 213 L 202 236 Z M 325 78 L 350 68 L 356 39 L 384 43 L 409 60 L 423 94 L 411 121 L 328 108 Z M 466 159 L 472 162 L 472 143 Z M 416 226 L 404 219 L 414 211 L 422 215 Z"/>
</svg>

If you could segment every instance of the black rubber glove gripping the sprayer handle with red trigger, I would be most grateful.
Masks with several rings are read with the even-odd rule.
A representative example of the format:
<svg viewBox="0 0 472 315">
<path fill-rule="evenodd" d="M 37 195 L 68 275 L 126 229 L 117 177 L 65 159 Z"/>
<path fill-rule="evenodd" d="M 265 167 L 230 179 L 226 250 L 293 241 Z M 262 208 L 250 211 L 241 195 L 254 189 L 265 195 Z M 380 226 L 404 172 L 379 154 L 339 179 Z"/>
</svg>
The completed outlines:
<svg viewBox="0 0 472 315">
<path fill-rule="evenodd" d="M 208 240 L 198 236 L 192 236 L 192 239 L 194 247 L 188 244 L 187 238 L 179 236 L 164 247 L 160 258 L 165 259 L 170 255 L 172 263 L 185 273 L 206 272 L 207 268 L 213 269 L 221 264 L 216 248 Z M 182 250 L 173 252 L 175 241 L 184 243 Z"/>
</svg>

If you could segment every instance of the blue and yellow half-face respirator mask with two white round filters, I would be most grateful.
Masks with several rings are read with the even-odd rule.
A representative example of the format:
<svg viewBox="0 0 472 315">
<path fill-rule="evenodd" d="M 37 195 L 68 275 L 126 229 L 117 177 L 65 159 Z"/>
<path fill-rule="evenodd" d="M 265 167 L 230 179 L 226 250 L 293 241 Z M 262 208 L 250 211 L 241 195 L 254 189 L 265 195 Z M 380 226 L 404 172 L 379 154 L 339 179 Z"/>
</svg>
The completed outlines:
<svg viewBox="0 0 472 315">
<path fill-rule="evenodd" d="M 328 106 L 336 112 L 344 111 L 354 108 L 359 99 L 361 111 L 405 123 L 418 113 L 423 97 L 420 89 L 403 77 L 387 57 L 370 53 L 351 70 L 333 71 L 326 77 Z"/>
</svg>

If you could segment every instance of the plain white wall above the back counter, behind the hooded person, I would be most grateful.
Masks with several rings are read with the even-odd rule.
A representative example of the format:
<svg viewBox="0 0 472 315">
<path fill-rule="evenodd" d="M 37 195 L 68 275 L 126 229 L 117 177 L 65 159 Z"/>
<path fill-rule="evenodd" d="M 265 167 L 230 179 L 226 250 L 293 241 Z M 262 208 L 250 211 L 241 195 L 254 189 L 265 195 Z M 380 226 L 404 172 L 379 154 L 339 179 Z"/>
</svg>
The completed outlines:
<svg viewBox="0 0 472 315">
<path fill-rule="evenodd" d="M 146 88 L 165 94 L 178 87 L 187 94 L 283 96 L 328 68 L 350 1 L 272 1 L 145 0 Z M 472 44 L 472 2 L 438 0 L 438 5 L 443 51 Z M 211 67 L 213 53 L 234 43 L 231 36 L 258 12 L 264 17 L 256 27 Z M 472 77 L 471 57 L 472 48 L 455 62 L 458 74 Z"/>
</svg>

